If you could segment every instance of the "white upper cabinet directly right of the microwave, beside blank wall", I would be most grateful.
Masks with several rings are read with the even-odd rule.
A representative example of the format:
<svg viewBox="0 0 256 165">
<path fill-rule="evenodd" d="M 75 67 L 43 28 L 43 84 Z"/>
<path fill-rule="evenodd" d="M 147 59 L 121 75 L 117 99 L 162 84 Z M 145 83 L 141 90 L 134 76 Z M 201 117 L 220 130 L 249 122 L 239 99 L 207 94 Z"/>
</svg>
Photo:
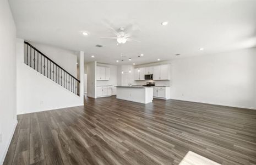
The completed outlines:
<svg viewBox="0 0 256 165">
<path fill-rule="evenodd" d="M 170 80 L 170 67 L 166 65 L 157 65 L 153 68 L 154 80 Z"/>
</svg>

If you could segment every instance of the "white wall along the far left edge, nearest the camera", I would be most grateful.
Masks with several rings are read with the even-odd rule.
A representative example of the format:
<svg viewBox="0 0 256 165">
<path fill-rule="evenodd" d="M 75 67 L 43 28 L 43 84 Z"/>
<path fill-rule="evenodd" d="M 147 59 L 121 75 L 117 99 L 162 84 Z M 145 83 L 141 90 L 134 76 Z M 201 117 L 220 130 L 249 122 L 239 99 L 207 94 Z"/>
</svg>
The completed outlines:
<svg viewBox="0 0 256 165">
<path fill-rule="evenodd" d="M 16 29 L 7 0 L 0 1 L 0 164 L 6 156 L 17 124 Z"/>
</svg>

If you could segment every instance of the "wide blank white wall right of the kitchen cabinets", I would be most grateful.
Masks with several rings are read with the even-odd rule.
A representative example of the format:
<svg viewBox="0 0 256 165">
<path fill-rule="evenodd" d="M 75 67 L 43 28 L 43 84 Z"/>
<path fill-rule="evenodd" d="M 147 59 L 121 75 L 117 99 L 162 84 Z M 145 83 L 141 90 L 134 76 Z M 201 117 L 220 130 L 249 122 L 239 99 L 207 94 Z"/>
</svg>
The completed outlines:
<svg viewBox="0 0 256 165">
<path fill-rule="evenodd" d="M 256 48 L 172 61 L 171 97 L 256 108 Z"/>
</svg>

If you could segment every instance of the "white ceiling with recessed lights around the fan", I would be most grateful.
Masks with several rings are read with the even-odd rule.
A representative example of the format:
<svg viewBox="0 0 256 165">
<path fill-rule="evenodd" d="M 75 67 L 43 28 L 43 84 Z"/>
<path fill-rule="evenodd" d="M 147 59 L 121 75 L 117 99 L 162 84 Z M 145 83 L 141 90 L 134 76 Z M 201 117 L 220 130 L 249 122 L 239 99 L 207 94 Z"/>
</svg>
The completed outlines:
<svg viewBox="0 0 256 165">
<path fill-rule="evenodd" d="M 256 1 L 82 1 L 9 0 L 17 36 L 84 51 L 85 61 L 143 64 L 256 46 Z M 116 29 L 135 22 L 141 42 L 116 45 L 104 25 Z M 162 21 L 168 21 L 162 26 Z M 89 36 L 81 35 L 88 31 Z M 103 47 L 98 48 L 95 45 Z M 203 47 L 204 51 L 199 51 Z M 124 56 L 132 58 L 117 63 Z M 144 57 L 138 57 L 140 53 Z M 175 56 L 175 54 L 181 56 Z M 94 55 L 95 58 L 91 58 Z"/>
</svg>

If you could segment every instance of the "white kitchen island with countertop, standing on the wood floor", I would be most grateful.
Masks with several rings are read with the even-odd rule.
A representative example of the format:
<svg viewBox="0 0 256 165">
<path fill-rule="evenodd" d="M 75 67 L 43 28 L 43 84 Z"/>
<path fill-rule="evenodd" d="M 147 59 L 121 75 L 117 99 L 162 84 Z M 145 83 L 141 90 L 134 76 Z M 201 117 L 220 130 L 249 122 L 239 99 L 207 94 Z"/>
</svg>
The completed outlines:
<svg viewBox="0 0 256 165">
<path fill-rule="evenodd" d="M 116 86 L 117 99 L 150 103 L 153 100 L 153 88 L 148 86 Z"/>
</svg>

